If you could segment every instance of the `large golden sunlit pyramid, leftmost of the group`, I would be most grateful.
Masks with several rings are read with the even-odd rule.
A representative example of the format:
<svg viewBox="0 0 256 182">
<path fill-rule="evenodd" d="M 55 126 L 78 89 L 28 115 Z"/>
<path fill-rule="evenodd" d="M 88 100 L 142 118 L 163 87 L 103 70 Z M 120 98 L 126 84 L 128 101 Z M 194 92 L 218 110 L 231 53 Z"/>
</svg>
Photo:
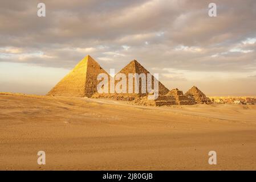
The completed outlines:
<svg viewBox="0 0 256 182">
<path fill-rule="evenodd" d="M 91 97 L 92 94 L 97 92 L 97 84 L 100 82 L 97 80 L 97 75 L 100 73 L 108 75 L 108 73 L 88 55 L 84 57 L 68 75 L 60 80 L 47 95 Z"/>
</svg>

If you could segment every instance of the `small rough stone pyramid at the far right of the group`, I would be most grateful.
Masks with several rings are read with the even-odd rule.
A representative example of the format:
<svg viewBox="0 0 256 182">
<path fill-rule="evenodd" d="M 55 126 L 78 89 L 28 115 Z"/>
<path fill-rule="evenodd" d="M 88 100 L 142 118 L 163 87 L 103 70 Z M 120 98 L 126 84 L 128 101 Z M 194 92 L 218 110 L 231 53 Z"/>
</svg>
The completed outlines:
<svg viewBox="0 0 256 182">
<path fill-rule="evenodd" d="M 194 100 L 197 104 L 212 104 L 209 97 L 206 97 L 204 93 L 196 86 L 193 86 L 188 92 L 185 93 L 190 99 Z"/>
</svg>

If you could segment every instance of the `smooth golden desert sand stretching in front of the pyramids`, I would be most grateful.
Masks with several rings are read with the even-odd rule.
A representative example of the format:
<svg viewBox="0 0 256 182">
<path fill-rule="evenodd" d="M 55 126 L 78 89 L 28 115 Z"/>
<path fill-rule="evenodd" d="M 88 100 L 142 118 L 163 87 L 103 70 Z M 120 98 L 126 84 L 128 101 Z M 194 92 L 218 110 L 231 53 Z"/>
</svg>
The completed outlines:
<svg viewBox="0 0 256 182">
<path fill-rule="evenodd" d="M 46 165 L 37 152 L 46 152 Z M 217 152 L 217 165 L 208 152 Z M 256 105 L 0 94 L 1 170 L 256 169 Z"/>
</svg>

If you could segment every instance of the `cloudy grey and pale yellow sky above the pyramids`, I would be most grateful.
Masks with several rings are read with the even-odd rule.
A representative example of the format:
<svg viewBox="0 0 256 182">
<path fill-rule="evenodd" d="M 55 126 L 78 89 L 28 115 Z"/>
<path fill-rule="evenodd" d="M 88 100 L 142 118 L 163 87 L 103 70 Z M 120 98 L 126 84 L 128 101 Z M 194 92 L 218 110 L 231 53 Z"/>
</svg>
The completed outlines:
<svg viewBox="0 0 256 182">
<path fill-rule="evenodd" d="M 86 55 L 107 72 L 135 59 L 184 93 L 256 96 L 256 1 L 0 0 L 0 92 L 46 94 Z"/>
</svg>

